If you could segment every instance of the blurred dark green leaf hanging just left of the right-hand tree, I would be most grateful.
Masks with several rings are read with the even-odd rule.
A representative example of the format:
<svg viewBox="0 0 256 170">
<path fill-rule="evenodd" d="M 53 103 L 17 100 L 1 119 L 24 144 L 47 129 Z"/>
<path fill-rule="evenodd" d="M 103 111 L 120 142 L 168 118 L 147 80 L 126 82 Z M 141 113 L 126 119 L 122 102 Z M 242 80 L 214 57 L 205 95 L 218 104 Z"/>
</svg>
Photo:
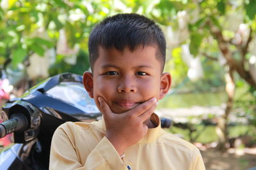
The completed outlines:
<svg viewBox="0 0 256 170">
<path fill-rule="evenodd" d="M 196 32 L 193 32 L 190 36 L 190 45 L 189 45 L 189 50 L 190 53 L 196 56 L 199 52 L 199 47 L 202 43 L 202 39 L 204 36 L 202 34 L 198 34 Z"/>
</svg>

